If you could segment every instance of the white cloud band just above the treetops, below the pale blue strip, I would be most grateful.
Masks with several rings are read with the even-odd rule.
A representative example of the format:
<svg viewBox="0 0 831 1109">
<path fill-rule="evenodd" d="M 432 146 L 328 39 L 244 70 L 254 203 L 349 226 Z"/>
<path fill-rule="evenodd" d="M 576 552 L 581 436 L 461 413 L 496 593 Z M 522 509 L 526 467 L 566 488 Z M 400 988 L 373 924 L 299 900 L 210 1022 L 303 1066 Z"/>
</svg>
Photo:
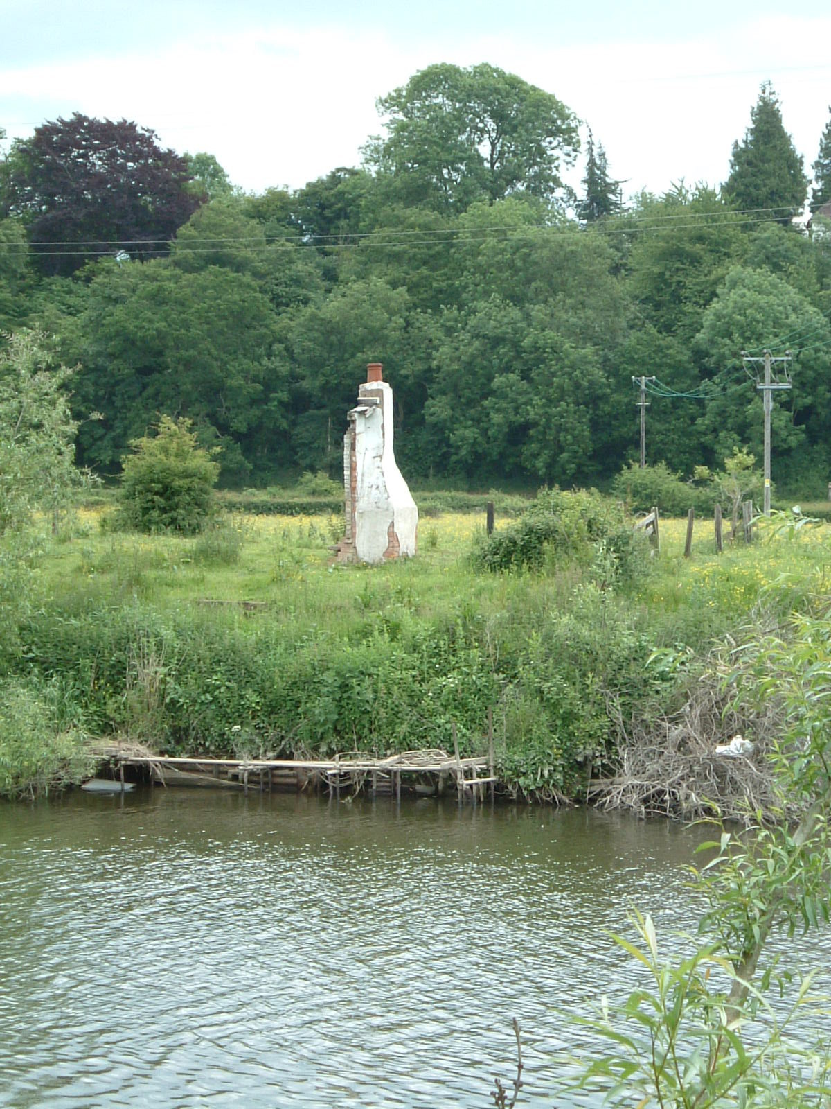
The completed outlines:
<svg viewBox="0 0 831 1109">
<path fill-rule="evenodd" d="M 770 77 L 807 166 L 831 100 L 831 18 L 760 18 L 718 38 L 571 45 L 510 34 L 407 43 L 390 33 L 269 27 L 173 44 L 148 55 L 7 68 L 0 120 L 69 114 L 135 119 L 176 150 L 207 150 L 246 189 L 293 187 L 352 165 L 379 130 L 378 95 L 435 61 L 490 61 L 554 92 L 593 128 L 627 189 L 681 177 L 718 184 Z M 737 59 L 739 61 L 737 62 Z M 737 69 L 739 70 L 737 72 Z M 11 109 L 11 110 L 10 110 Z M 18 114 L 20 109 L 18 108 Z M 11 134 L 32 128 L 8 125 Z M 579 177 L 579 167 L 576 173 Z"/>
</svg>

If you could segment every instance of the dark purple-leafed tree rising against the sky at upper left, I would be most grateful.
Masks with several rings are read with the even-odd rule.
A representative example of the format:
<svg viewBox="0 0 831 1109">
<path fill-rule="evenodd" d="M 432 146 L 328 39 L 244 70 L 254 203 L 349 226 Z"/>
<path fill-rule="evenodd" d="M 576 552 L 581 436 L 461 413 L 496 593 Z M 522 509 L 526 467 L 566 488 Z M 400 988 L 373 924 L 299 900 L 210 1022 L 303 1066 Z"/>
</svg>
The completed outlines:
<svg viewBox="0 0 831 1109">
<path fill-rule="evenodd" d="M 119 251 L 164 253 L 205 200 L 186 189 L 191 180 L 186 160 L 162 149 L 154 131 L 75 112 L 13 144 L 0 211 L 23 220 L 43 273 L 66 275 Z"/>
</svg>

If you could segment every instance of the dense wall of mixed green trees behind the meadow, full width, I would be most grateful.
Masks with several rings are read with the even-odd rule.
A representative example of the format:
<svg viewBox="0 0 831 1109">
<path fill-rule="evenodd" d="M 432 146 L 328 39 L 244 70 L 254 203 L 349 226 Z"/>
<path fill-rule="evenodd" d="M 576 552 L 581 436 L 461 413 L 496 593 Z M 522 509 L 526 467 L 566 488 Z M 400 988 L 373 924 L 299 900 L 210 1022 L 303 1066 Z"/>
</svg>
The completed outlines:
<svg viewBox="0 0 831 1109">
<path fill-rule="evenodd" d="M 117 472 L 161 415 L 223 447 L 223 480 L 337 471 L 367 362 L 396 390 L 413 477 L 571 485 L 637 451 L 632 377 L 656 377 L 648 455 L 673 469 L 761 450 L 740 353 L 792 348 L 778 467 L 831 471 L 831 237 L 763 85 L 720 190 L 622 203 L 577 121 L 490 65 L 433 65 L 379 101 L 360 167 L 235 190 L 205 153 L 80 114 L 0 161 L 0 327 L 78 365 L 79 461 Z M 831 189 L 829 129 L 812 207 Z"/>
</svg>

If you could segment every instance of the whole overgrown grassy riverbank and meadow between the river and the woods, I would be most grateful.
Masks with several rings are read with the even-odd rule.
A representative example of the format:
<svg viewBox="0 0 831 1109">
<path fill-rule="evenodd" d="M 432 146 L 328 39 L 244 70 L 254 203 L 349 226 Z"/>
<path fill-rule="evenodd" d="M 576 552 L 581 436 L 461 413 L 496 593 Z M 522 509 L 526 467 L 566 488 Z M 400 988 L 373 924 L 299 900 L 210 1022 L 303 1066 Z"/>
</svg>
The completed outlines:
<svg viewBox="0 0 831 1109">
<path fill-rule="evenodd" d="M 178 538 L 107 533 L 105 513 L 49 542 L 3 663 L 52 706 L 50 734 L 387 754 L 447 747 L 455 723 L 474 753 L 492 709 L 502 779 L 543 797 L 582 795 L 627 722 L 671 709 L 683 683 L 667 657 L 810 606 L 829 568 L 818 533 L 717 557 L 709 523 L 687 560 L 686 521 L 665 521 L 660 557 L 642 552 L 613 582 L 602 548 L 534 573 L 476 571 L 470 513 L 422 520 L 419 557 L 377 568 L 330 563 L 335 516 L 238 513 Z"/>
</svg>

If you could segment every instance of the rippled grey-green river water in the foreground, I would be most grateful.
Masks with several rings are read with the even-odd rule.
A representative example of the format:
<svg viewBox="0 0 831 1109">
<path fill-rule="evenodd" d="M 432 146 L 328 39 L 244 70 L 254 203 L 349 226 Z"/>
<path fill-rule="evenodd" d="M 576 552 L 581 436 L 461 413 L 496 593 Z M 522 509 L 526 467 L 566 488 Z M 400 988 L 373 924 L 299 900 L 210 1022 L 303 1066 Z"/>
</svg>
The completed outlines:
<svg viewBox="0 0 831 1109">
<path fill-rule="evenodd" d="M 689 927 L 696 837 L 591 811 L 147 791 L 0 806 L 0 1106 L 523 1105 Z"/>
</svg>

